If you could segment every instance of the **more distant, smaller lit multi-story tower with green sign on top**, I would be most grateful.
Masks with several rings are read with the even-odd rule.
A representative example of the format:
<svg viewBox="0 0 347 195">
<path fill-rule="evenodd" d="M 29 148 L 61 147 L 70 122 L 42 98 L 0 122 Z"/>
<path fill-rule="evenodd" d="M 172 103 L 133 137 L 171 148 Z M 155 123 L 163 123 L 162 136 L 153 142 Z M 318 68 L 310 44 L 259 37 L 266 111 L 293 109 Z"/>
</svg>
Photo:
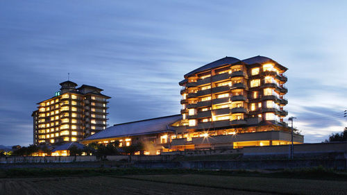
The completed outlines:
<svg viewBox="0 0 347 195">
<path fill-rule="evenodd" d="M 109 96 L 98 87 L 71 81 L 60 83 L 61 88 L 51 99 L 38 104 L 33 112 L 34 144 L 78 142 L 104 130 L 108 124 Z"/>
</svg>

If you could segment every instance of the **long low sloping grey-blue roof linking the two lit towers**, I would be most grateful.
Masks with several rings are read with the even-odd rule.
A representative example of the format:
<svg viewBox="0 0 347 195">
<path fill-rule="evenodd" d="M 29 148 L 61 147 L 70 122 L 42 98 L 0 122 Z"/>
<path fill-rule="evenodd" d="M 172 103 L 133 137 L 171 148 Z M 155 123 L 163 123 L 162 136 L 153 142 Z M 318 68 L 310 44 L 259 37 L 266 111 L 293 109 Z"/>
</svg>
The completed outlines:
<svg viewBox="0 0 347 195">
<path fill-rule="evenodd" d="M 110 137 L 128 137 L 134 135 L 147 135 L 171 131 L 170 125 L 182 119 L 182 115 L 172 115 L 142 121 L 133 121 L 126 124 L 117 124 L 95 133 L 84 140 L 105 139 Z"/>
</svg>

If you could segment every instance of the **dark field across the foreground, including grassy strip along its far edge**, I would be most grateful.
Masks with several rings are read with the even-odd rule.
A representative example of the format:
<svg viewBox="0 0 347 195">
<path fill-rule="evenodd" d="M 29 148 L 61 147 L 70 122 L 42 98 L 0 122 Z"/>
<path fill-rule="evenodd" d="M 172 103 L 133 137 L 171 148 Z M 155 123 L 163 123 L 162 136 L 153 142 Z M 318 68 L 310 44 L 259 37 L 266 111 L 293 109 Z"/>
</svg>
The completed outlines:
<svg viewBox="0 0 347 195">
<path fill-rule="evenodd" d="M 1 174 L 0 195 L 347 194 L 346 173 L 324 169 L 277 173 L 190 169 L 12 169 Z"/>
</svg>

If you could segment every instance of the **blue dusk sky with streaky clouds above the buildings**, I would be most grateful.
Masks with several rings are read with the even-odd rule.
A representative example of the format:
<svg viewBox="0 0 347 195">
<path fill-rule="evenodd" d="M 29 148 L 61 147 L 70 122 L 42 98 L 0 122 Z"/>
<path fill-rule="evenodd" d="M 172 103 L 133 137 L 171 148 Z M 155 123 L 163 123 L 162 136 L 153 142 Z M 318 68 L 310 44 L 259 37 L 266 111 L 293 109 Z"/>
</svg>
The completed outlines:
<svg viewBox="0 0 347 195">
<path fill-rule="evenodd" d="M 180 113 L 183 75 L 226 56 L 288 68 L 305 142 L 347 126 L 347 1 L 0 1 L 0 145 L 33 144 L 59 83 L 111 96 L 108 124 Z M 285 121 L 288 121 L 288 117 Z"/>
</svg>

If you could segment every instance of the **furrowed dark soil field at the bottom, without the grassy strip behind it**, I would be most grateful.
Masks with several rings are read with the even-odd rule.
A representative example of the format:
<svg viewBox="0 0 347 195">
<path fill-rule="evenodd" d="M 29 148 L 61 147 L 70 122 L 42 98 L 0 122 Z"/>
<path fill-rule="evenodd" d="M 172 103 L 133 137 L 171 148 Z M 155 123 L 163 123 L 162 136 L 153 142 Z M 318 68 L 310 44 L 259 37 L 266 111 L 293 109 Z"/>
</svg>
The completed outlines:
<svg viewBox="0 0 347 195">
<path fill-rule="evenodd" d="M 208 175 L 0 178 L 0 194 L 346 194 L 346 181 Z"/>
</svg>

